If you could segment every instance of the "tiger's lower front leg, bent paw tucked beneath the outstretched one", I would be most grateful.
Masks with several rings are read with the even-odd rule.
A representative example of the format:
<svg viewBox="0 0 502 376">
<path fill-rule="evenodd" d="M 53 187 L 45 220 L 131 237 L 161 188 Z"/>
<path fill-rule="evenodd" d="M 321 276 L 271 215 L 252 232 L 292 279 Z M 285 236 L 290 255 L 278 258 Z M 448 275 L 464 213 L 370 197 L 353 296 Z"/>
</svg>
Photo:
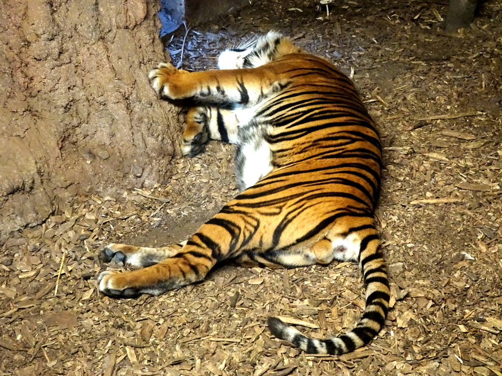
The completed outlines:
<svg viewBox="0 0 502 376">
<path fill-rule="evenodd" d="M 231 110 L 212 107 L 191 107 L 181 138 L 181 153 L 193 157 L 200 153 L 208 138 L 237 143 L 238 121 Z"/>
</svg>

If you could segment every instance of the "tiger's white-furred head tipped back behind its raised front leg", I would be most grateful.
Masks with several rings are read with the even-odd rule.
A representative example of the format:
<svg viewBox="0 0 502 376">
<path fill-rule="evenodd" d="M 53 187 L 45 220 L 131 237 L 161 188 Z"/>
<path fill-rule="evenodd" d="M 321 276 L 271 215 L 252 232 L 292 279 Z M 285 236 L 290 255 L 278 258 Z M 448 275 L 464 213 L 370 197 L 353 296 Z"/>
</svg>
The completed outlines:
<svg viewBox="0 0 502 376">
<path fill-rule="evenodd" d="M 301 53 L 289 38 L 270 31 L 262 37 L 255 37 L 236 48 L 223 51 L 218 57 L 219 69 L 257 68 L 285 55 Z"/>
</svg>

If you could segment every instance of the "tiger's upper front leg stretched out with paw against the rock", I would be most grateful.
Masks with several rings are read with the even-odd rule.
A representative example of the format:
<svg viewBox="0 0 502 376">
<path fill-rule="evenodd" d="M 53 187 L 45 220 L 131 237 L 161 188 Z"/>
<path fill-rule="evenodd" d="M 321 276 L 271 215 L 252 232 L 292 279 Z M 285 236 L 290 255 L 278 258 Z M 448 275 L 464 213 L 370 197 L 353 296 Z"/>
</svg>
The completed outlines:
<svg viewBox="0 0 502 376">
<path fill-rule="evenodd" d="M 149 78 L 159 98 L 193 98 L 220 108 L 257 104 L 264 96 L 282 90 L 289 82 L 287 77 L 281 77 L 266 66 L 186 72 L 168 63 L 159 64 L 150 72 Z"/>
</svg>

